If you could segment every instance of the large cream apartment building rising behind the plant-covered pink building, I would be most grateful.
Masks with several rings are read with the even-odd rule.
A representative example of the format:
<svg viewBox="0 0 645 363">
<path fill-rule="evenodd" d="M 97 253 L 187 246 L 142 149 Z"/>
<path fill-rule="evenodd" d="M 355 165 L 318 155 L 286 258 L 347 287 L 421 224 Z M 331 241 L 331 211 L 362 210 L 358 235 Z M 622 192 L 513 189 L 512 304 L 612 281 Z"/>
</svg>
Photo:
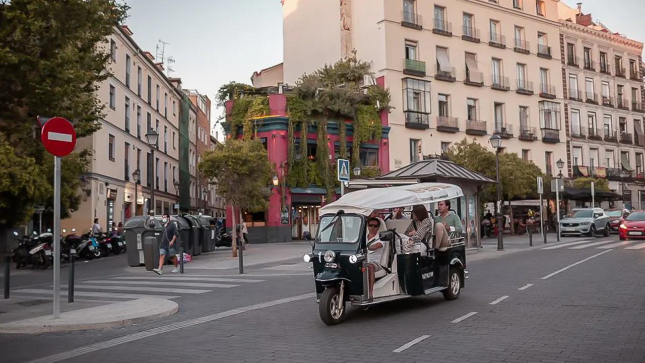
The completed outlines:
<svg viewBox="0 0 645 363">
<path fill-rule="evenodd" d="M 372 61 L 395 107 L 393 169 L 464 138 L 490 148 L 499 134 L 505 151 L 557 174 L 566 154 L 557 1 L 332 3 L 283 1 L 284 82 L 352 49 Z"/>
</svg>

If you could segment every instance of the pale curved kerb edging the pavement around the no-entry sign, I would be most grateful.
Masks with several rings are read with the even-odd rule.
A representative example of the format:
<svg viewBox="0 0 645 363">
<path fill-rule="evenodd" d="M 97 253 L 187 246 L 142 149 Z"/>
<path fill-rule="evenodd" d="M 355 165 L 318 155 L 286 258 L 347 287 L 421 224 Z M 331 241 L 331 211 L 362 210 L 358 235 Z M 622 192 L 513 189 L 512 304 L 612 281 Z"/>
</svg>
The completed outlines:
<svg viewBox="0 0 645 363">
<path fill-rule="evenodd" d="M 148 300 L 152 299 L 146 299 L 146 302 Z M 155 313 L 148 314 L 148 315 L 143 315 L 143 316 L 135 316 L 132 318 L 124 318 L 124 319 L 118 319 L 117 320 L 112 320 L 112 321 L 106 321 L 106 322 L 95 322 L 95 323 L 79 323 L 79 324 L 43 324 L 42 322 L 40 324 L 37 324 L 35 319 L 28 319 L 28 320 L 34 320 L 33 322 L 26 322 L 26 320 L 19 320 L 17 322 L 10 322 L 6 324 L 0 324 L 0 333 L 1 334 L 41 334 L 41 333 L 62 333 L 62 332 L 69 332 L 69 331 L 79 331 L 79 330 L 96 330 L 96 329 L 112 329 L 114 327 L 125 327 L 125 326 L 132 326 L 134 324 L 140 324 L 143 322 L 150 322 L 152 320 L 157 320 L 160 318 L 165 318 L 166 316 L 174 315 L 179 311 L 179 305 L 172 301 L 172 300 L 160 300 L 160 299 L 154 299 L 157 302 L 163 301 L 163 304 L 166 305 L 165 307 L 161 307 L 160 309 L 163 309 L 163 311 L 159 311 L 160 309 L 155 309 Z M 139 301 L 139 300 L 133 300 L 133 301 Z M 121 304 L 121 303 L 116 303 L 116 304 Z M 106 306 L 112 306 L 115 304 L 107 304 Z M 97 309 L 96 307 L 92 307 L 90 309 Z M 114 309 L 118 309 L 115 307 Z M 74 313 L 75 311 L 70 311 L 68 313 Z M 62 315 L 62 314 L 61 314 Z M 40 318 L 50 318 L 50 315 L 48 316 L 41 316 Z"/>
</svg>

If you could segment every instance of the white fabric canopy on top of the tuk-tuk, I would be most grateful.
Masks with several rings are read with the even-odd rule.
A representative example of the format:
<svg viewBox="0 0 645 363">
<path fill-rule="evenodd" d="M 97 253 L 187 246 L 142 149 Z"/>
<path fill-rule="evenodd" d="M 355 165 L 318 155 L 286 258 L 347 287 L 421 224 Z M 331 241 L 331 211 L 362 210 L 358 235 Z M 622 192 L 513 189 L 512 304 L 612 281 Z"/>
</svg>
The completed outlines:
<svg viewBox="0 0 645 363">
<path fill-rule="evenodd" d="M 340 210 L 364 216 L 372 211 L 410 205 L 429 204 L 464 196 L 460 187 L 448 183 L 419 183 L 398 187 L 364 189 L 341 196 L 339 200 L 325 205 L 320 215 L 335 214 Z"/>
</svg>

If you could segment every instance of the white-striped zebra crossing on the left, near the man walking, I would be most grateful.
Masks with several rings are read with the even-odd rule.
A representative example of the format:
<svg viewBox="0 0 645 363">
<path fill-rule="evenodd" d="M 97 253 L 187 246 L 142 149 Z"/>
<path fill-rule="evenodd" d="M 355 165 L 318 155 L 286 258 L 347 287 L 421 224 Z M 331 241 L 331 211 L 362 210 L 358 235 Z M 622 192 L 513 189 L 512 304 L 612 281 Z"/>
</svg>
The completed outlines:
<svg viewBox="0 0 645 363">
<path fill-rule="evenodd" d="M 181 296 L 210 293 L 215 289 L 230 289 L 243 284 L 257 284 L 264 280 L 252 278 L 224 278 L 213 275 L 153 275 L 114 276 L 105 279 L 80 280 L 74 284 L 74 298 L 79 300 L 128 301 L 139 298 L 166 300 Z M 53 285 L 39 288 L 19 288 L 12 295 L 32 298 L 50 298 Z M 61 296 L 66 297 L 68 285 L 61 284 Z"/>
</svg>

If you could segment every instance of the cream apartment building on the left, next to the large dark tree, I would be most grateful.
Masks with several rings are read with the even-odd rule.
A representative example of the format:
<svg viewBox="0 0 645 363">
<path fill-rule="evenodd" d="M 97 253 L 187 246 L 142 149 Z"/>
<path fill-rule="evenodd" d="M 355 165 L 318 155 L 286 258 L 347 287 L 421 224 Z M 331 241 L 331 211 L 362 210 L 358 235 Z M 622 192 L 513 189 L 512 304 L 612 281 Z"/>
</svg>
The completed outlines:
<svg viewBox="0 0 645 363">
<path fill-rule="evenodd" d="M 93 156 L 90 171 L 83 176 L 83 202 L 61 221 L 64 228 L 88 229 L 98 218 L 109 230 L 112 222 L 124 222 L 153 208 L 157 214 L 172 212 L 177 202 L 173 182 L 179 169 L 181 94 L 164 76 L 162 65 L 141 50 L 132 35 L 128 26 L 118 26 L 107 39 L 114 76 L 97 90 L 106 116 L 101 130 L 77 142 L 79 150 L 90 149 Z M 146 141 L 151 129 L 159 135 L 154 156 Z M 137 185 L 135 171 L 139 171 Z"/>
</svg>

